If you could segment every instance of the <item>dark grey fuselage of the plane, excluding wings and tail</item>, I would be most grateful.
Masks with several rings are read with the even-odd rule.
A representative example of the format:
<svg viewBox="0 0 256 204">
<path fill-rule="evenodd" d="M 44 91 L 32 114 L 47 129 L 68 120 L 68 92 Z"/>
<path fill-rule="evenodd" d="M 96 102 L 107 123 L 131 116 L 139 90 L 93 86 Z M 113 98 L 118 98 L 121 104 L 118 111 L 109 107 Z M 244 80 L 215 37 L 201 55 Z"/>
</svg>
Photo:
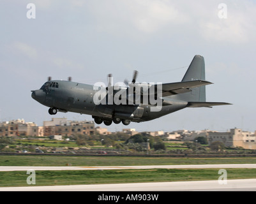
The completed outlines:
<svg viewBox="0 0 256 204">
<path fill-rule="evenodd" d="M 133 122 L 153 120 L 186 107 L 186 101 L 169 101 L 171 105 L 162 106 L 161 110 L 151 112 L 153 105 L 96 105 L 94 94 L 97 90 L 93 85 L 77 82 L 52 80 L 46 82 L 41 89 L 33 91 L 32 98 L 42 105 L 56 108 L 59 112 L 75 112 L 103 120 L 112 119 L 113 115 L 119 119 Z M 50 113 L 50 112 L 49 112 Z"/>
</svg>

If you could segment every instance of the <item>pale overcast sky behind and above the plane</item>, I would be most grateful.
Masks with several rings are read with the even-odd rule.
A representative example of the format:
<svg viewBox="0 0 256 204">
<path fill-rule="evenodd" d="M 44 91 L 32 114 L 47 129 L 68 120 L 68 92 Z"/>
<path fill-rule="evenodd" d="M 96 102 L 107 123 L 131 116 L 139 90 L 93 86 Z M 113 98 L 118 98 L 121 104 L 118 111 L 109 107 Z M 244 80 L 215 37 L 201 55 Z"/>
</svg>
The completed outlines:
<svg viewBox="0 0 256 204">
<path fill-rule="evenodd" d="M 36 18 L 27 17 L 29 3 L 36 6 Z M 48 108 L 30 92 L 49 76 L 107 84 L 109 73 L 123 82 L 137 69 L 139 82 L 179 82 L 200 54 L 206 80 L 214 83 L 206 87 L 207 101 L 234 105 L 185 108 L 107 128 L 256 130 L 256 1 L 1 0 L 0 25 L 1 121 L 50 120 Z M 55 117 L 92 120 L 76 113 Z"/>
</svg>

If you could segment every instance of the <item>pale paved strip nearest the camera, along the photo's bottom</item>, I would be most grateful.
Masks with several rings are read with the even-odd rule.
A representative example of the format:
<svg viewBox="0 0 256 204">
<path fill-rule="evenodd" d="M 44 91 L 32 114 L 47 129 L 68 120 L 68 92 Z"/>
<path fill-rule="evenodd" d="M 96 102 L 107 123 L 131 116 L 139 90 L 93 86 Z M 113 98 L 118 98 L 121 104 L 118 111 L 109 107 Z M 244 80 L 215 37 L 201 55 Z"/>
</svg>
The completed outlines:
<svg viewBox="0 0 256 204">
<path fill-rule="evenodd" d="M 151 182 L 133 184 L 93 184 L 73 186 L 1 187 L 0 191 L 256 191 L 256 179 Z"/>
</svg>

